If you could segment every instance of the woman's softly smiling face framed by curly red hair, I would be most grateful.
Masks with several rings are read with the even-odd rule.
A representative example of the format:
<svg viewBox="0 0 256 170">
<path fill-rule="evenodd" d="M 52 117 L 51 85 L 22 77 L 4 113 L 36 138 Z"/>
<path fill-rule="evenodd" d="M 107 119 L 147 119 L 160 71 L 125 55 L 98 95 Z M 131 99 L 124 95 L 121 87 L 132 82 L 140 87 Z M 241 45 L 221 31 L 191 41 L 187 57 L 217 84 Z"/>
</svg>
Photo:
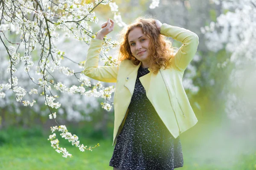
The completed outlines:
<svg viewBox="0 0 256 170">
<path fill-rule="evenodd" d="M 142 62 L 146 62 L 150 54 L 150 40 L 143 35 L 142 29 L 136 27 L 131 30 L 128 34 L 128 42 L 133 56 Z"/>
</svg>

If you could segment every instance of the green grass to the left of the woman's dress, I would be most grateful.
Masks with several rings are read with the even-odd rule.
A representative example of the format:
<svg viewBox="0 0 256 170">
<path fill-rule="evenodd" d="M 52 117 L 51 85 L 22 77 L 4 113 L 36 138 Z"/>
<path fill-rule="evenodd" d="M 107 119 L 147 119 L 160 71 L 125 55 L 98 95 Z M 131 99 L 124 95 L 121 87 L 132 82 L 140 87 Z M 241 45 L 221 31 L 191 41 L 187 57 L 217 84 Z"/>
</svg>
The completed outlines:
<svg viewBox="0 0 256 170">
<path fill-rule="evenodd" d="M 0 147 L 1 170 L 112 170 L 108 166 L 113 153 L 111 141 L 91 141 L 80 139 L 87 146 L 100 146 L 93 151 L 79 151 L 79 148 L 67 146 L 72 158 L 63 158 L 46 138 L 20 139 L 20 145 L 4 144 Z M 25 142 L 26 141 L 26 142 Z M 38 141 L 38 142 L 36 142 Z M 61 143 L 60 143 L 61 144 Z M 62 145 L 63 146 L 63 145 Z"/>
</svg>

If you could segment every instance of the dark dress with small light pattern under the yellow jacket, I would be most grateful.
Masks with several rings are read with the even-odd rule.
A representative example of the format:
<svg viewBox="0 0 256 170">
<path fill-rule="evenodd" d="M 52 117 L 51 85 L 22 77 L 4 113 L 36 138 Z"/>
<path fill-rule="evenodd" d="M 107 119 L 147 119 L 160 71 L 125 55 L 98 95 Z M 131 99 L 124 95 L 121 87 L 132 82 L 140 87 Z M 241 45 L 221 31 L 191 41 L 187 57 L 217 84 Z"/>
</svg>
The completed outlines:
<svg viewBox="0 0 256 170">
<path fill-rule="evenodd" d="M 125 124 L 117 136 L 109 166 L 120 170 L 173 170 L 183 167 L 180 137 L 171 135 L 146 96 L 140 66 Z"/>
</svg>

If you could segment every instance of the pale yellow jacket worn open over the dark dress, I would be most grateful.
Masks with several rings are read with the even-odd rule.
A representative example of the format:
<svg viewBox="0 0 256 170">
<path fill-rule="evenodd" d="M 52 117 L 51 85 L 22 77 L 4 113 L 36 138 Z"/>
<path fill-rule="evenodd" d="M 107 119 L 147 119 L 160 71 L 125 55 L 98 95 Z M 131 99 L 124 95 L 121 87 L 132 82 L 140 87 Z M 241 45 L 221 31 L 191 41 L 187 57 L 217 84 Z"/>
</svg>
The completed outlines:
<svg viewBox="0 0 256 170">
<path fill-rule="evenodd" d="M 198 119 L 186 96 L 182 85 L 184 70 L 194 57 L 198 47 L 198 36 L 184 28 L 162 24 L 162 35 L 172 37 L 183 43 L 175 57 L 170 59 L 171 68 L 160 68 L 157 74 L 151 69 L 140 77 L 151 104 L 166 125 L 169 132 L 177 138 L 180 133 L 194 126 Z M 134 65 L 130 60 L 123 60 L 118 66 L 98 66 L 103 40 L 92 39 L 84 66 L 84 75 L 102 82 L 116 82 L 114 93 L 114 132 L 113 144 L 125 123 L 128 106 L 134 92 L 137 71 L 142 64 Z"/>
</svg>

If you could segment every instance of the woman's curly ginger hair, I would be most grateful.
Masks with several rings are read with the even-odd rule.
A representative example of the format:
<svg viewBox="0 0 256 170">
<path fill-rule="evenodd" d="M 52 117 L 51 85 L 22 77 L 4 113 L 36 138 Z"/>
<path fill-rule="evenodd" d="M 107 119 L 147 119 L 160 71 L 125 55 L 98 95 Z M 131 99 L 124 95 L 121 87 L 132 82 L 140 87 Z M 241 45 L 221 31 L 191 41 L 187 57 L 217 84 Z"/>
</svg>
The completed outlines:
<svg viewBox="0 0 256 170">
<path fill-rule="evenodd" d="M 150 40 L 149 48 L 151 55 L 148 56 L 149 67 L 153 74 L 157 74 L 159 69 L 163 66 L 164 69 L 170 68 L 170 59 L 174 57 L 175 48 L 172 47 L 172 42 L 161 35 L 157 30 L 154 18 L 138 17 L 134 23 L 129 24 L 120 32 L 120 48 L 118 61 L 122 62 L 125 59 L 131 60 L 134 65 L 139 65 L 140 60 L 136 59 L 131 53 L 131 48 L 128 42 L 128 34 L 134 28 L 141 28 L 145 37 Z"/>
</svg>

